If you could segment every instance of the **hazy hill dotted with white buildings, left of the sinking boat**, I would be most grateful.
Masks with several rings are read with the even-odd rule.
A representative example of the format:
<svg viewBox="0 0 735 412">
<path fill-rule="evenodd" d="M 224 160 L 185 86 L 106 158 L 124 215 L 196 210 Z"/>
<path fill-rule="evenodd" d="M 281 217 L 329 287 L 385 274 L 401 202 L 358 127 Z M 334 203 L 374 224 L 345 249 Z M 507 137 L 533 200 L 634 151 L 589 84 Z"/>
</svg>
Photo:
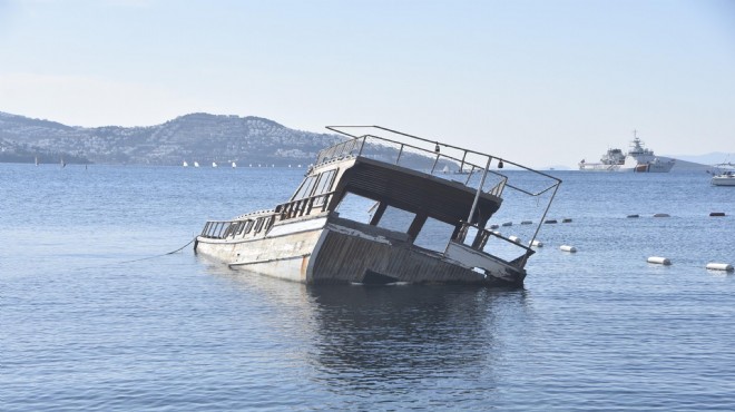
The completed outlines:
<svg viewBox="0 0 735 412">
<path fill-rule="evenodd" d="M 343 140 L 259 117 L 190 114 L 149 127 L 77 127 L 0 112 L 0 161 L 310 164 Z"/>
</svg>

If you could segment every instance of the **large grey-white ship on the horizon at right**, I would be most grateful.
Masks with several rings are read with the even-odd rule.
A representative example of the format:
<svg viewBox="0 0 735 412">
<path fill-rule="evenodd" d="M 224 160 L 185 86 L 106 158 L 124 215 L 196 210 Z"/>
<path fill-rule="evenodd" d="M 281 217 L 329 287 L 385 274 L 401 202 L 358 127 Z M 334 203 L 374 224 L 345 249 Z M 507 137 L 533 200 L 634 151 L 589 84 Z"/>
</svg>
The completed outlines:
<svg viewBox="0 0 735 412">
<path fill-rule="evenodd" d="M 668 173 L 676 159 L 655 156 L 654 151 L 644 147 L 640 138 L 633 130 L 630 150 L 624 154 L 620 149 L 608 149 L 600 158 L 600 163 L 579 163 L 579 170 L 585 171 L 636 171 L 636 173 Z"/>
</svg>

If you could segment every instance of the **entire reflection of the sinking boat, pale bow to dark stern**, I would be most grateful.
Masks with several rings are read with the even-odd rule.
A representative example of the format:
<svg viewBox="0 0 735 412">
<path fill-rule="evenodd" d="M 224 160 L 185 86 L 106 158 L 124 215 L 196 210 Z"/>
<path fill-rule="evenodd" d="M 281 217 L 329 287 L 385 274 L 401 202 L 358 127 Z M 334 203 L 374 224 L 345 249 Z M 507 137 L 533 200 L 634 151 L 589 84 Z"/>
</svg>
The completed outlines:
<svg viewBox="0 0 735 412">
<path fill-rule="evenodd" d="M 294 343 L 315 380 L 330 385 L 474 375 L 489 385 L 523 322 L 526 291 L 447 285 L 306 286 L 210 267 L 256 304 Z M 255 303 L 255 302 L 253 302 Z M 277 323 L 277 324 L 276 324 Z M 314 371 L 313 371 L 314 372 Z M 345 377 L 349 377 L 345 380 Z M 332 388 L 335 389 L 335 388 Z"/>
</svg>

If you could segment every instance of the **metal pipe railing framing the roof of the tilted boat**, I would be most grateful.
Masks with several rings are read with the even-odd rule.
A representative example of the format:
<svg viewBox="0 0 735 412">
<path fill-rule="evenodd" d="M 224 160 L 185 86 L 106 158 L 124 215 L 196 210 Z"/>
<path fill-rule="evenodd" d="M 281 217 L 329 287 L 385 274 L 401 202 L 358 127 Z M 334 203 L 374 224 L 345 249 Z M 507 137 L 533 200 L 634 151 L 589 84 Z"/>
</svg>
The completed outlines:
<svg viewBox="0 0 735 412">
<path fill-rule="evenodd" d="M 514 194 L 532 199 L 536 207 L 541 206 L 542 212 L 531 241 L 536 239 L 541 228 L 540 222 L 546 218 L 561 184 L 561 179 L 557 177 L 494 155 L 464 149 L 381 126 L 327 126 L 327 129 L 352 139 L 320 151 L 316 165 L 345 157 L 366 157 L 458 182 L 477 190 L 476 202 L 468 220 L 473 220 L 474 206 L 480 192 L 507 197 L 504 192 L 512 189 Z M 494 168 L 491 169 L 491 166 Z M 500 171 L 506 166 L 518 171 L 529 171 L 532 178 L 527 178 L 529 175 L 514 173 L 511 179 L 510 173 Z M 549 192 L 551 194 L 545 198 L 547 202 L 543 204 L 541 196 Z"/>
</svg>

